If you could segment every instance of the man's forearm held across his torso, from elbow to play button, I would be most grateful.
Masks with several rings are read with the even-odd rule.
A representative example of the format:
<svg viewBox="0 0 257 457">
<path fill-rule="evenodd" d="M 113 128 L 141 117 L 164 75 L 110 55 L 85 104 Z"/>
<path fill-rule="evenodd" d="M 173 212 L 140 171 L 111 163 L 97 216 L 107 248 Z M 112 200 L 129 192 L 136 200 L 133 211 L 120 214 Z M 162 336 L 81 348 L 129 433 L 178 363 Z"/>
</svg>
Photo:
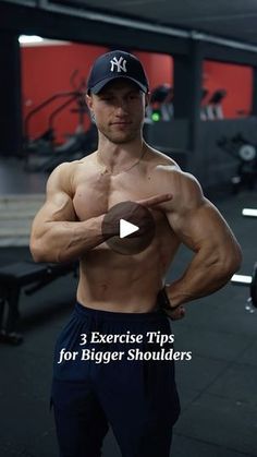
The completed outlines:
<svg viewBox="0 0 257 457">
<path fill-rule="evenodd" d="M 32 237 L 30 251 L 36 262 L 72 262 L 101 244 L 105 215 L 85 221 L 45 223 L 40 237 Z M 110 237 L 114 233 L 110 232 Z"/>
</svg>

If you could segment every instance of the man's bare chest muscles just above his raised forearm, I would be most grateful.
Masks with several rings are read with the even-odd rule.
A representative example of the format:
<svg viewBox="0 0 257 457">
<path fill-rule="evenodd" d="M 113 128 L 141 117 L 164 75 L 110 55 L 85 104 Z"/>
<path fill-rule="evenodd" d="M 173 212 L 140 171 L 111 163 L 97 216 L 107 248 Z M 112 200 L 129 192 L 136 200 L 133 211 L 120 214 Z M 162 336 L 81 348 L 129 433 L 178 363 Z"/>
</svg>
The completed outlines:
<svg viewBox="0 0 257 457">
<path fill-rule="evenodd" d="M 154 181 L 146 175 L 136 172 L 117 176 L 95 172 L 81 176 L 75 185 L 74 209 L 79 220 L 97 217 L 120 202 L 137 202 L 161 193 Z"/>
</svg>

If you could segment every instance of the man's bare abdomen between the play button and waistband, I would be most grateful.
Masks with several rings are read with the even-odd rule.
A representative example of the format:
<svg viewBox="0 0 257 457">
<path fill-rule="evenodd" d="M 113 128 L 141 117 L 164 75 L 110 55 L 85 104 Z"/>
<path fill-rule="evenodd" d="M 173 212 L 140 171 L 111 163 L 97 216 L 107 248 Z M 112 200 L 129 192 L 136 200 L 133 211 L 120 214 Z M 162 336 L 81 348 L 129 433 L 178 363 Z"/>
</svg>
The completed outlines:
<svg viewBox="0 0 257 457">
<path fill-rule="evenodd" d="M 156 237 L 136 255 L 121 255 L 100 244 L 81 258 L 77 301 L 103 311 L 154 311 L 178 248 L 176 238 L 170 236 Z"/>
</svg>

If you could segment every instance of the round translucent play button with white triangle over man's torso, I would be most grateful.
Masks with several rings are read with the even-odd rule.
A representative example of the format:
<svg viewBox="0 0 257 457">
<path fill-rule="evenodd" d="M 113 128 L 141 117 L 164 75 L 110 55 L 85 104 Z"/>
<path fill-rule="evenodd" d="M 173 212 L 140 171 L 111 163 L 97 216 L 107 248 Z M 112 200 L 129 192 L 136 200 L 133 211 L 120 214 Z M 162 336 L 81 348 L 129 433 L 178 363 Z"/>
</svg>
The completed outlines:
<svg viewBox="0 0 257 457">
<path fill-rule="evenodd" d="M 149 209 L 134 202 L 112 206 L 102 220 L 102 236 L 109 248 L 123 255 L 138 254 L 150 245 L 155 219 Z M 110 237 L 110 233 L 118 233 Z"/>
</svg>

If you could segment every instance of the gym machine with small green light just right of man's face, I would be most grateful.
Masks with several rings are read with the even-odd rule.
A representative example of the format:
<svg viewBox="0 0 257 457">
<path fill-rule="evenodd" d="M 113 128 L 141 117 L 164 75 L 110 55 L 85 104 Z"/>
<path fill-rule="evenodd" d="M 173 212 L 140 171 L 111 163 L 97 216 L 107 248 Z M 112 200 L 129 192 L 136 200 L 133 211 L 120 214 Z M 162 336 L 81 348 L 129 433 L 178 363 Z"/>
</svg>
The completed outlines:
<svg viewBox="0 0 257 457">
<path fill-rule="evenodd" d="M 173 118 L 173 88 L 169 84 L 157 86 L 150 96 L 146 109 L 147 118 L 152 122 L 170 121 Z"/>
</svg>

